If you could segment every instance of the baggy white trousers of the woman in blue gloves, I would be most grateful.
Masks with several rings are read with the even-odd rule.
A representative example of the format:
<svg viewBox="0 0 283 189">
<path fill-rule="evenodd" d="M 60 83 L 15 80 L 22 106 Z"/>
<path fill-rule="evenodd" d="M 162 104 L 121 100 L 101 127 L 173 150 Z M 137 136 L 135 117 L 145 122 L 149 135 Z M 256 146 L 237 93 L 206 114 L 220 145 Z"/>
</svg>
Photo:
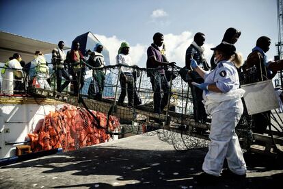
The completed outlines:
<svg viewBox="0 0 283 189">
<path fill-rule="evenodd" d="M 244 175 L 247 171 L 239 139 L 235 127 L 243 114 L 241 99 L 232 99 L 214 103 L 209 107 L 213 110 L 208 153 L 204 158 L 204 172 L 219 176 L 225 158 L 233 173 Z"/>
</svg>

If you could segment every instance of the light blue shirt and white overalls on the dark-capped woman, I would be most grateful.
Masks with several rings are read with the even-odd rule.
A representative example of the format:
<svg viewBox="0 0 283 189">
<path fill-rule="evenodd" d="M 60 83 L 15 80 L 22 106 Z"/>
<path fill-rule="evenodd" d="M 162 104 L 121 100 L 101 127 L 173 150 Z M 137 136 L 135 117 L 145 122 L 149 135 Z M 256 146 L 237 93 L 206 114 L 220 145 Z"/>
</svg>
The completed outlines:
<svg viewBox="0 0 283 189">
<path fill-rule="evenodd" d="M 227 159 L 230 171 L 245 175 L 247 168 L 235 127 L 243 114 L 244 90 L 239 89 L 239 76 L 234 64 L 221 61 L 211 73 L 205 73 L 204 83 L 216 84 L 222 92 L 204 90 L 206 113 L 211 114 L 211 132 L 208 153 L 204 159 L 204 172 L 219 176 Z"/>
</svg>

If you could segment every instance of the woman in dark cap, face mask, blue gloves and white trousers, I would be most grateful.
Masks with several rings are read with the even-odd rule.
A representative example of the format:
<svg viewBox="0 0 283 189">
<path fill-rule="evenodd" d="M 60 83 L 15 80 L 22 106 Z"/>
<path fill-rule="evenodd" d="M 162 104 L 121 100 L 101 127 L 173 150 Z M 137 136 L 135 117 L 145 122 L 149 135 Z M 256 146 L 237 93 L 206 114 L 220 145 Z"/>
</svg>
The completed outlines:
<svg viewBox="0 0 283 189">
<path fill-rule="evenodd" d="M 196 84 L 204 90 L 203 99 L 207 114 L 211 114 L 211 132 L 208 153 L 204 158 L 202 169 L 204 173 L 197 176 L 201 184 L 215 182 L 221 177 L 245 178 L 247 167 L 235 133 L 235 127 L 243 114 L 241 97 L 245 91 L 239 88 L 237 67 L 243 59 L 236 53 L 234 45 L 221 42 L 215 51 L 216 68 L 204 71 L 191 59 L 191 67 L 204 78 L 204 83 Z M 228 162 L 228 169 L 222 171 L 224 160 Z M 222 171 L 222 173 L 221 173 Z"/>
</svg>

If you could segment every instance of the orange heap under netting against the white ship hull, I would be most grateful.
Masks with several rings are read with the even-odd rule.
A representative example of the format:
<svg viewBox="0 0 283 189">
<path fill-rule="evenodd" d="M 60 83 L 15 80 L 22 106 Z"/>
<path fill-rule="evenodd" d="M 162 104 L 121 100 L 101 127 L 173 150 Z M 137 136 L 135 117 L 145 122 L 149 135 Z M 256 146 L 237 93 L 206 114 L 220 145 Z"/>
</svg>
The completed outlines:
<svg viewBox="0 0 283 189">
<path fill-rule="evenodd" d="M 84 108 L 64 106 L 45 116 L 42 127 L 33 134 L 31 139 L 33 151 L 44 151 L 62 148 L 64 151 L 99 144 L 109 140 L 107 131 L 107 115 L 91 111 L 97 119 Z M 116 116 L 109 116 L 109 131 L 120 124 Z"/>
</svg>

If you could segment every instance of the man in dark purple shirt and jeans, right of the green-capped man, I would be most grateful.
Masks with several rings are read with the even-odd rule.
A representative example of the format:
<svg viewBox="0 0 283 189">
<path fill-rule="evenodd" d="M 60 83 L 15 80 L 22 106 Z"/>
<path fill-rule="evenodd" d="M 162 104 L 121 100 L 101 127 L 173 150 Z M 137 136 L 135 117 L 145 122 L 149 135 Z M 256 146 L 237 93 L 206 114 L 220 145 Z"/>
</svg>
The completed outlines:
<svg viewBox="0 0 283 189">
<path fill-rule="evenodd" d="M 175 62 L 164 62 L 159 47 L 163 45 L 164 36 L 157 32 L 153 36 L 153 43 L 148 47 L 146 61 L 146 68 L 148 69 L 148 77 L 152 84 L 154 113 L 161 114 L 163 109 L 168 103 L 169 98 L 169 84 L 165 77 L 165 71 L 163 66 L 174 66 Z M 163 97 L 161 98 L 161 92 L 163 91 Z"/>
</svg>

